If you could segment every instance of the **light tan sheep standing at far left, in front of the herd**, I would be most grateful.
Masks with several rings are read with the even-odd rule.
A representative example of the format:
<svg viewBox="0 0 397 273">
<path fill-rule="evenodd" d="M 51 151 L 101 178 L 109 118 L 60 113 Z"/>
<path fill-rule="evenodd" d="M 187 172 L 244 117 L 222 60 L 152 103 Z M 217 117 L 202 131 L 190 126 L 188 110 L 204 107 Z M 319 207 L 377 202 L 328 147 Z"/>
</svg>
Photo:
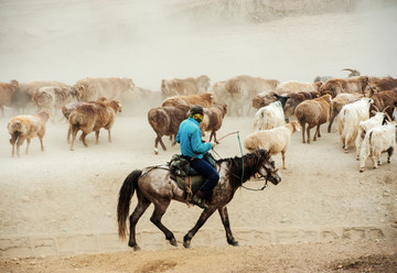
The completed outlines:
<svg viewBox="0 0 397 273">
<path fill-rule="evenodd" d="M 36 114 L 23 114 L 17 116 L 7 125 L 9 133 L 11 134 L 10 143 L 12 145 L 11 156 L 15 154 L 20 156 L 20 148 L 26 140 L 26 154 L 29 153 L 29 146 L 31 139 L 39 136 L 41 150 L 44 152 L 43 138 L 45 135 L 45 123 L 51 118 L 51 113 L 47 109 L 40 111 Z"/>
</svg>

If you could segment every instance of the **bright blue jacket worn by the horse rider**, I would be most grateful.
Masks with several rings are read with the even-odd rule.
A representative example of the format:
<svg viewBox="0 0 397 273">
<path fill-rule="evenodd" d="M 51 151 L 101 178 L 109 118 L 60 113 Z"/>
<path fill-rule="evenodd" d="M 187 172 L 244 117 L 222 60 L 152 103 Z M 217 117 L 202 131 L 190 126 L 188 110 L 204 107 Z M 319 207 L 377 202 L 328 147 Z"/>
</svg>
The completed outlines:
<svg viewBox="0 0 397 273">
<path fill-rule="evenodd" d="M 193 118 L 182 121 L 176 133 L 176 142 L 181 143 L 182 155 L 190 157 L 203 159 L 212 149 L 211 143 L 202 142 L 198 122 Z"/>
</svg>

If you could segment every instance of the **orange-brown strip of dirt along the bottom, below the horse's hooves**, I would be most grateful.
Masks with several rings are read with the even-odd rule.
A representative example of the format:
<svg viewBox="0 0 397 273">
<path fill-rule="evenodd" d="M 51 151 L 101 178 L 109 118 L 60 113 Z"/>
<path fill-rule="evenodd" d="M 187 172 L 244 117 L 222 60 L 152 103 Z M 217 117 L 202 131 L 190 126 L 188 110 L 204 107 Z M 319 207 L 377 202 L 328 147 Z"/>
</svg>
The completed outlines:
<svg viewBox="0 0 397 273">
<path fill-rule="evenodd" d="M 1 272 L 396 272 L 396 241 L 297 243 L 1 260 Z"/>
</svg>

